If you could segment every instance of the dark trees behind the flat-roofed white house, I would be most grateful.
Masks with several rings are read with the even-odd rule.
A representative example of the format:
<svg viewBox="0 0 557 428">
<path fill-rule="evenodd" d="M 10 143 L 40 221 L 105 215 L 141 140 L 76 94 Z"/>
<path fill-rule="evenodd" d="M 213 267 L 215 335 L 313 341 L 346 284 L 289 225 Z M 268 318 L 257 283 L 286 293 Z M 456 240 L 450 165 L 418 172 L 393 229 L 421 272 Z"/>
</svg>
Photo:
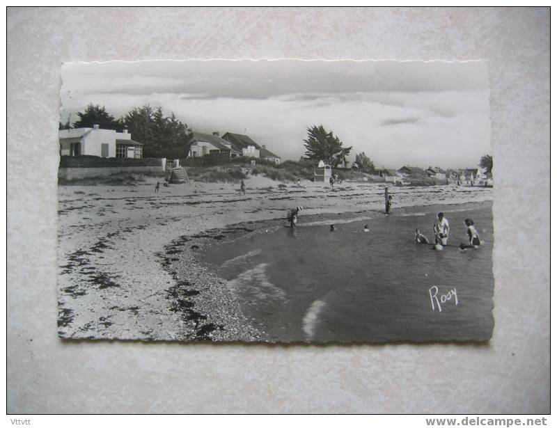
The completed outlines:
<svg viewBox="0 0 557 428">
<path fill-rule="evenodd" d="M 99 125 L 102 129 L 127 129 L 135 141 L 143 143 L 144 157 L 184 157 L 189 152 L 191 128 L 176 118 L 174 113 L 164 116 L 162 108 L 153 109 L 149 104 L 128 111 L 121 118 L 114 118 L 104 106 L 89 104 L 77 113 L 77 120 L 60 122 L 60 129 L 84 128 Z"/>
</svg>

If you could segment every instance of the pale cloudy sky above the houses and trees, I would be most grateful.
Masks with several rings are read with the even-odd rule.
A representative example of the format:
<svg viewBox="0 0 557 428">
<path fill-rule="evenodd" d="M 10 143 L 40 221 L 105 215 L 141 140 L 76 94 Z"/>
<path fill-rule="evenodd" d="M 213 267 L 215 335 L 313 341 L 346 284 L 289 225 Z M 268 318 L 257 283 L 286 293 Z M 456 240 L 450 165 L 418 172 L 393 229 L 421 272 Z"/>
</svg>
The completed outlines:
<svg viewBox="0 0 557 428">
<path fill-rule="evenodd" d="M 487 62 L 66 63 L 61 120 L 87 104 L 116 118 L 150 103 L 194 131 L 237 132 L 299 159 L 324 125 L 377 166 L 477 166 L 491 153 Z"/>
</svg>

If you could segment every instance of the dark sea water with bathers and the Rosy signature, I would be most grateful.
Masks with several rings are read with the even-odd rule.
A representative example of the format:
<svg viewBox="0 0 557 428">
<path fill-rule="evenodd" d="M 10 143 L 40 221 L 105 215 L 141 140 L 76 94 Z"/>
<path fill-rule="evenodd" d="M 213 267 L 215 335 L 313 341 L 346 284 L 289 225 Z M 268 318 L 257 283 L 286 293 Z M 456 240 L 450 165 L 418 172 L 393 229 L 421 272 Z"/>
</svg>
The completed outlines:
<svg viewBox="0 0 557 428">
<path fill-rule="evenodd" d="M 244 314 L 278 342 L 487 340 L 491 337 L 492 210 L 447 209 L 448 247 L 433 241 L 437 210 L 256 232 L 203 258 L 228 280 Z M 460 250 L 464 219 L 478 249 Z M 363 231 L 363 224 L 370 227 Z"/>
</svg>

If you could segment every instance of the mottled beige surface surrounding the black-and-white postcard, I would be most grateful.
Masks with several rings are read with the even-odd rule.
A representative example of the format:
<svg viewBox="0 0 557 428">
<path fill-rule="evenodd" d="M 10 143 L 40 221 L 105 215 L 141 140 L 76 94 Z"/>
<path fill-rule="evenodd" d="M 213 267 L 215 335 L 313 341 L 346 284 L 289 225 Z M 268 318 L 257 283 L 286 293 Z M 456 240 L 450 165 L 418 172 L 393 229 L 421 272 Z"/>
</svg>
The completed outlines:
<svg viewBox="0 0 557 428">
<path fill-rule="evenodd" d="M 60 65 L 160 58 L 488 59 L 492 341 L 59 340 Z M 10 8 L 7 79 L 8 412 L 549 412 L 549 9 Z"/>
</svg>

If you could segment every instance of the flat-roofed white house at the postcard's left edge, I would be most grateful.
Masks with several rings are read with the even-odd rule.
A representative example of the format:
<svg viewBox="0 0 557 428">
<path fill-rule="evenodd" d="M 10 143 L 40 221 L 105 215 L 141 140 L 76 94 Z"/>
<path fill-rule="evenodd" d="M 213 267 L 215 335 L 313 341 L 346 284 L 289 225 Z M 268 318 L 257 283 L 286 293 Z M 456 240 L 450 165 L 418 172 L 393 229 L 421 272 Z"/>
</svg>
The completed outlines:
<svg viewBox="0 0 557 428">
<path fill-rule="evenodd" d="M 88 154 L 100 157 L 143 157 L 143 143 L 132 140 L 127 129 L 116 132 L 113 129 L 100 129 L 99 125 L 60 129 L 58 138 L 61 156 Z"/>
</svg>

